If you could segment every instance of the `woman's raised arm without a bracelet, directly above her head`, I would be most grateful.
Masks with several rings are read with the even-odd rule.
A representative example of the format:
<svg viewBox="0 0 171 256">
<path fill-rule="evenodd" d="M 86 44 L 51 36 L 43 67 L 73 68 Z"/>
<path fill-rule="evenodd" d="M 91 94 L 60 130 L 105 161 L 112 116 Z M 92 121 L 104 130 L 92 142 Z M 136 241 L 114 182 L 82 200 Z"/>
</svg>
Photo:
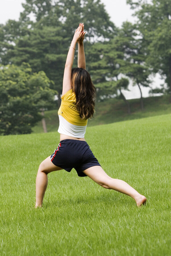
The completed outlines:
<svg viewBox="0 0 171 256">
<path fill-rule="evenodd" d="M 82 25 L 82 37 L 78 41 L 78 68 L 84 68 L 86 69 L 86 58 L 84 53 L 84 35 L 86 32 L 84 32 L 84 23 L 80 23 Z"/>
</svg>

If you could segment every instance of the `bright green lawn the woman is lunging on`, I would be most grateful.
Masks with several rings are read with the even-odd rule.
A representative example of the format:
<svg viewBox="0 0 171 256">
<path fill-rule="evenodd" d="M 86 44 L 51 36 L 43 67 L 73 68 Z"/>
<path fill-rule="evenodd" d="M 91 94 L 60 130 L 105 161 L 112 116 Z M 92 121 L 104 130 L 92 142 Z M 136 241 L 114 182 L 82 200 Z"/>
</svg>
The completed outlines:
<svg viewBox="0 0 171 256">
<path fill-rule="evenodd" d="M 1 136 L 0 255 L 170 255 L 170 114 L 87 127 L 103 169 L 147 197 L 137 208 L 73 169 L 48 174 L 35 209 L 38 166 L 59 134 Z"/>
</svg>

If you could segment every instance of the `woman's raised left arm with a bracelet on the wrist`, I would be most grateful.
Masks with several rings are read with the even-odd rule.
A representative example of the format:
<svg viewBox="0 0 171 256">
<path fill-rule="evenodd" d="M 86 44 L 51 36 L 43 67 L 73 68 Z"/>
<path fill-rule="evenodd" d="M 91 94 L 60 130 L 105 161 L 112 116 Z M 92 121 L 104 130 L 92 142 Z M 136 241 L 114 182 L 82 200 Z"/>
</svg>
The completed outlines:
<svg viewBox="0 0 171 256">
<path fill-rule="evenodd" d="M 82 32 L 83 25 L 79 25 L 79 27 L 76 29 L 76 32 L 74 34 L 74 37 L 71 42 L 70 49 L 68 51 L 68 55 L 66 58 L 66 64 L 64 69 L 64 78 L 63 78 L 63 88 L 62 88 L 62 95 L 64 95 L 66 92 L 72 89 L 71 86 L 71 70 L 72 65 L 74 62 L 74 53 L 76 49 L 76 43 L 80 40 L 83 33 Z"/>
</svg>

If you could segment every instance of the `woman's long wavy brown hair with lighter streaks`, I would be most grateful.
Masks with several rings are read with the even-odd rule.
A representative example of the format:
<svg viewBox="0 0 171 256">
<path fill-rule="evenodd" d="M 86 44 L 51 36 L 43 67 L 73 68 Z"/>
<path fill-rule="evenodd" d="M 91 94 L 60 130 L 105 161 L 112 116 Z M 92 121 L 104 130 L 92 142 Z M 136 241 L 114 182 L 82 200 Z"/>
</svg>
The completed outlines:
<svg viewBox="0 0 171 256">
<path fill-rule="evenodd" d="M 72 68 L 71 84 L 76 94 L 76 108 L 82 119 L 91 118 L 95 107 L 95 87 L 90 74 L 84 68 Z"/>
</svg>

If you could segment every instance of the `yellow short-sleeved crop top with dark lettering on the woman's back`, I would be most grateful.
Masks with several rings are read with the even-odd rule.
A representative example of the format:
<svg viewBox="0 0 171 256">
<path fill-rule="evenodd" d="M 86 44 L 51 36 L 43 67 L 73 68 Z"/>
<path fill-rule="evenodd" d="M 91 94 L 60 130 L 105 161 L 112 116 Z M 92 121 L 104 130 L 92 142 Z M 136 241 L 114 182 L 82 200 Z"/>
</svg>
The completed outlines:
<svg viewBox="0 0 171 256">
<path fill-rule="evenodd" d="M 85 126 L 87 119 L 81 119 L 79 111 L 76 109 L 76 95 L 73 90 L 69 90 L 61 97 L 61 105 L 58 110 L 58 115 L 64 117 L 70 124 Z"/>
</svg>

